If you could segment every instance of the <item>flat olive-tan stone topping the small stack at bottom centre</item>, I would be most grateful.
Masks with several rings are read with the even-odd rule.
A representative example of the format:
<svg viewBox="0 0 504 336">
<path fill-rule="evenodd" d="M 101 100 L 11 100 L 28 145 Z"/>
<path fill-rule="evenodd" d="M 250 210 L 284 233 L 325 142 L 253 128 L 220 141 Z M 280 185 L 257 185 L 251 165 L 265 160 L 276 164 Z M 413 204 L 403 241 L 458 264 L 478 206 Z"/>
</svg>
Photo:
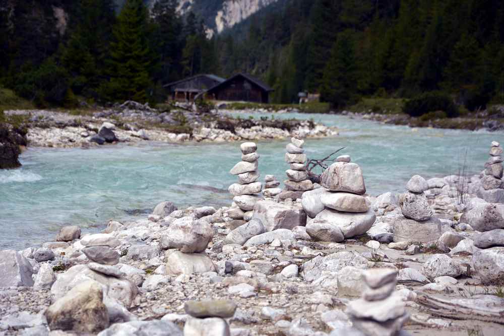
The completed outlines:
<svg viewBox="0 0 504 336">
<path fill-rule="evenodd" d="M 228 318 L 234 315 L 236 303 L 231 300 L 201 300 L 185 301 L 184 310 L 193 317 L 221 317 Z"/>
</svg>

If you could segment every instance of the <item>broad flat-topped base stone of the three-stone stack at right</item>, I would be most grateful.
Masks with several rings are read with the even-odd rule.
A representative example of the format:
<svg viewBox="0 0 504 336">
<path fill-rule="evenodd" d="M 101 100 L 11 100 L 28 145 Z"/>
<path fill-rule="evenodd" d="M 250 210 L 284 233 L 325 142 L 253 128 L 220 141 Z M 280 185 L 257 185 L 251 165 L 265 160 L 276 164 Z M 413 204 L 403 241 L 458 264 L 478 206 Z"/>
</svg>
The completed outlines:
<svg viewBox="0 0 504 336">
<path fill-rule="evenodd" d="M 402 216 L 387 217 L 394 231 L 394 242 L 418 241 L 427 243 L 439 239 L 442 235 L 441 221 L 435 217 L 417 222 Z"/>
</svg>

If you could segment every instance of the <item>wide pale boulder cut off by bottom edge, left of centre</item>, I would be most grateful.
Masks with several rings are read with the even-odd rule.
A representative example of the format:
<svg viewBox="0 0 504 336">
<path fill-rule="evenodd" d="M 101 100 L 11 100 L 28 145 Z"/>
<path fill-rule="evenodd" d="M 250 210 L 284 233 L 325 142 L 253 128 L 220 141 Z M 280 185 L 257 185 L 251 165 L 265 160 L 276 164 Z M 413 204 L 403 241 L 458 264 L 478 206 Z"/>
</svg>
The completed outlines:
<svg viewBox="0 0 504 336">
<path fill-rule="evenodd" d="M 182 330 L 173 322 L 165 320 L 130 321 L 114 323 L 98 333 L 98 336 L 182 336 Z"/>
</svg>

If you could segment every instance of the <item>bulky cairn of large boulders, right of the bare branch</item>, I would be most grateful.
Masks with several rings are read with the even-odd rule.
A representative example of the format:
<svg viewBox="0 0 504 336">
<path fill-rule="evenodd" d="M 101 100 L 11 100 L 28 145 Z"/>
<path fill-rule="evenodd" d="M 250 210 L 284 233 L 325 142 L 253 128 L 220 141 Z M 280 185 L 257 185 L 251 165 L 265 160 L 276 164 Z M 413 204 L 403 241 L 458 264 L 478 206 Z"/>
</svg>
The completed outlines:
<svg viewBox="0 0 504 336">
<path fill-rule="evenodd" d="M 314 240 L 341 242 L 364 234 L 376 220 L 363 196 L 362 170 L 348 155 L 340 156 L 321 176 L 322 188 L 303 195 L 301 205 L 310 217 L 306 233 Z"/>
</svg>

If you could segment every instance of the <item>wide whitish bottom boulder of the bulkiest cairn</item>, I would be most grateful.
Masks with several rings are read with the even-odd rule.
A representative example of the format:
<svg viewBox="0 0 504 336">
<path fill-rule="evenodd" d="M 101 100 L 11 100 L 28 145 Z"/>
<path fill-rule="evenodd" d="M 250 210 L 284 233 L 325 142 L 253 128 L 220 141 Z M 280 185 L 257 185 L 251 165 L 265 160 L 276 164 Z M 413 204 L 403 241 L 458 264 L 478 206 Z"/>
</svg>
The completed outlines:
<svg viewBox="0 0 504 336">
<path fill-rule="evenodd" d="M 365 213 L 349 213 L 326 208 L 309 222 L 338 226 L 343 236 L 348 239 L 366 233 L 374 224 L 375 219 L 376 215 L 372 210 Z"/>
</svg>

